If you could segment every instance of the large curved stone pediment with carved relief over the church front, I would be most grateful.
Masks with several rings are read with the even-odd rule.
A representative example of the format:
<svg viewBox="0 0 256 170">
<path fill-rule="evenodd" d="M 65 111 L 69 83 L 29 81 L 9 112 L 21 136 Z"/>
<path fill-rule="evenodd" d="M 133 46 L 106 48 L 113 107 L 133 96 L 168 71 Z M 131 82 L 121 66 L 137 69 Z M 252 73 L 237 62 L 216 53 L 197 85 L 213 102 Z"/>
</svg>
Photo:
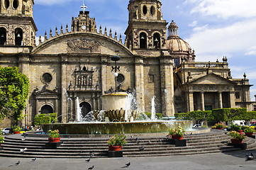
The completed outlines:
<svg viewBox="0 0 256 170">
<path fill-rule="evenodd" d="M 101 54 L 101 55 L 126 55 L 133 53 L 118 40 L 99 33 L 65 33 L 40 43 L 33 50 L 33 54 Z"/>
</svg>

